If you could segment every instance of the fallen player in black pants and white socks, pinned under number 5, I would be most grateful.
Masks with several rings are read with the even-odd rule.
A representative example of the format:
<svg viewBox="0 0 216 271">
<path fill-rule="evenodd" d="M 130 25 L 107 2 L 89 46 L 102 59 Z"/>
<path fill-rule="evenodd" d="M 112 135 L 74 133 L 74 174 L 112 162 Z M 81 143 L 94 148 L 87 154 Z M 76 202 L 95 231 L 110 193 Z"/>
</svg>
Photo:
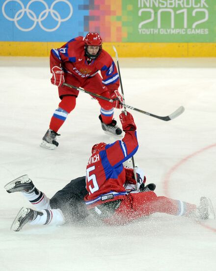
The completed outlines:
<svg viewBox="0 0 216 271">
<path fill-rule="evenodd" d="M 137 169 L 142 172 L 141 169 Z M 155 184 L 145 186 L 145 177 L 137 173 L 138 188 L 140 191 L 155 189 Z M 144 181 L 143 181 L 144 180 Z M 132 191 L 134 185 L 133 169 L 126 168 L 125 187 L 128 192 Z M 85 189 L 85 176 L 76 178 L 68 183 L 63 189 L 59 190 L 49 199 L 43 192 L 38 190 L 28 175 L 20 176 L 7 183 L 4 188 L 8 193 L 22 192 L 36 210 L 22 207 L 17 214 L 11 230 L 19 232 L 23 226 L 29 222 L 31 225 L 56 225 L 81 224 L 89 222 L 91 215 L 86 208 L 84 196 L 87 194 Z"/>
</svg>

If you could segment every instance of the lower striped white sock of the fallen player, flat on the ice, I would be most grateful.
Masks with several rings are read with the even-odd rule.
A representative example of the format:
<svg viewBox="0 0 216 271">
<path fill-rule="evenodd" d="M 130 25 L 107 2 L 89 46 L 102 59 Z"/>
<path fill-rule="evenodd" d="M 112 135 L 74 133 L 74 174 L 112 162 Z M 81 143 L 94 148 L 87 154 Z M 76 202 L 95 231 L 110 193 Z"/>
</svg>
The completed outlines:
<svg viewBox="0 0 216 271">
<path fill-rule="evenodd" d="M 30 225 L 55 225 L 61 226 L 65 223 L 65 218 L 60 209 L 41 210 L 43 215 L 37 215 L 36 218 L 29 222 Z"/>
</svg>

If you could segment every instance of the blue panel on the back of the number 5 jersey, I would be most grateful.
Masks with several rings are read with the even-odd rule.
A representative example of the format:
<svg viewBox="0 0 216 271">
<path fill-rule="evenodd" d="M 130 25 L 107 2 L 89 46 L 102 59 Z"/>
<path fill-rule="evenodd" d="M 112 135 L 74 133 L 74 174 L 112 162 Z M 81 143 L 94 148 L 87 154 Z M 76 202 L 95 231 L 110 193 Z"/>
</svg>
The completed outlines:
<svg viewBox="0 0 216 271">
<path fill-rule="evenodd" d="M 115 169 L 113 170 L 113 167 L 108 161 L 106 150 L 100 151 L 99 155 L 101 157 L 101 162 L 105 171 L 106 179 L 117 179 L 118 175 L 123 170 L 123 165 L 121 164 L 119 167 L 115 167 Z"/>
</svg>

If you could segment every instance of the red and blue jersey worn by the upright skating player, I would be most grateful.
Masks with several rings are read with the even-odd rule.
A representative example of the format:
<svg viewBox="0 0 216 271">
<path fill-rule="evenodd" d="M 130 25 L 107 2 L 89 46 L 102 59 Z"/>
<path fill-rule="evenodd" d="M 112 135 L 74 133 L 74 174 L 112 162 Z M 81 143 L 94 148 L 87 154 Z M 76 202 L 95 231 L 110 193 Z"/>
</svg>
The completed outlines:
<svg viewBox="0 0 216 271">
<path fill-rule="evenodd" d="M 71 39 L 59 49 L 52 49 L 50 55 L 50 68 L 61 67 L 65 72 L 74 75 L 80 80 L 94 76 L 101 71 L 102 83 L 113 91 L 119 87 L 119 75 L 111 56 L 102 49 L 101 54 L 87 62 L 84 51 L 84 37 Z"/>
</svg>

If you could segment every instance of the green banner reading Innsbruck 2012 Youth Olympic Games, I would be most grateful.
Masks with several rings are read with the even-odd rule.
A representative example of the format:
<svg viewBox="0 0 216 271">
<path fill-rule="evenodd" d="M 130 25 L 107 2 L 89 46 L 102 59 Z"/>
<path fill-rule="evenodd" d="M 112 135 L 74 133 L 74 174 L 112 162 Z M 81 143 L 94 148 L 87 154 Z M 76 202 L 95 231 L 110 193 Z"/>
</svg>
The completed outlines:
<svg viewBox="0 0 216 271">
<path fill-rule="evenodd" d="M 215 0 L 124 0 L 123 29 L 135 42 L 216 42 Z M 131 21 L 131 22 L 129 22 Z"/>
</svg>

